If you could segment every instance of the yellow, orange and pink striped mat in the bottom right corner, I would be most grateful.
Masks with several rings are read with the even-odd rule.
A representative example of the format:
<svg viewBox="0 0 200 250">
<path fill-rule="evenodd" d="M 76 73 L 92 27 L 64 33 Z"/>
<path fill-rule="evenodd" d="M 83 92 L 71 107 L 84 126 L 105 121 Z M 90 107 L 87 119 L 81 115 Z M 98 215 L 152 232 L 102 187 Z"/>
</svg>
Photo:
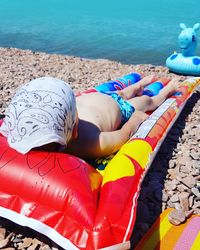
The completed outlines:
<svg viewBox="0 0 200 250">
<path fill-rule="evenodd" d="M 172 225 L 166 209 L 140 240 L 135 250 L 200 250 L 200 215 L 192 215 L 184 224 Z"/>
</svg>

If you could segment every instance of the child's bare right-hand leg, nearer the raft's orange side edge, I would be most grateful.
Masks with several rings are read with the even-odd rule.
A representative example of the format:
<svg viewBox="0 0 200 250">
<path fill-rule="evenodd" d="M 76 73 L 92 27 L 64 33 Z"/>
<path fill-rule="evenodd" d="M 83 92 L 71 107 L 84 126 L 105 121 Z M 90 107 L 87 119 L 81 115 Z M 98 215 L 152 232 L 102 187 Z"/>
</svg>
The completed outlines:
<svg viewBox="0 0 200 250">
<path fill-rule="evenodd" d="M 170 81 L 158 95 L 149 97 L 149 96 L 138 96 L 128 100 L 136 110 L 143 112 L 153 111 L 158 106 L 160 106 L 169 96 L 175 93 L 178 89 L 177 80 Z"/>
</svg>

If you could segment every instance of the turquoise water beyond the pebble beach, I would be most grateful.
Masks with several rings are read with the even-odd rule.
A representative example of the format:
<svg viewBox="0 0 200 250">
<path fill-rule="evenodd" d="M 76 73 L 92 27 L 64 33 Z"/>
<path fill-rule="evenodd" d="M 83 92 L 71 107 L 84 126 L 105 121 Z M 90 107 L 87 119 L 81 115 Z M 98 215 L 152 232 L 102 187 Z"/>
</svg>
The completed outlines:
<svg viewBox="0 0 200 250">
<path fill-rule="evenodd" d="M 163 65 L 199 10 L 199 0 L 0 0 L 0 46 Z"/>
</svg>

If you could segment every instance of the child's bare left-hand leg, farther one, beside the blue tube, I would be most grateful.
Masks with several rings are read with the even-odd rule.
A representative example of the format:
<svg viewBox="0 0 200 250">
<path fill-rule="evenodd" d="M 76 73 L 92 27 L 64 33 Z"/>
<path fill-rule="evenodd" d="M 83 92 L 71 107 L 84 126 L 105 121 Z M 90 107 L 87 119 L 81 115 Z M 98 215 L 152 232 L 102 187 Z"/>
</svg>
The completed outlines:
<svg viewBox="0 0 200 250">
<path fill-rule="evenodd" d="M 124 100 L 129 100 L 143 91 L 144 87 L 156 80 L 155 76 L 150 75 L 142 78 L 140 81 L 132 84 L 122 90 L 117 90 L 117 94 Z"/>
</svg>

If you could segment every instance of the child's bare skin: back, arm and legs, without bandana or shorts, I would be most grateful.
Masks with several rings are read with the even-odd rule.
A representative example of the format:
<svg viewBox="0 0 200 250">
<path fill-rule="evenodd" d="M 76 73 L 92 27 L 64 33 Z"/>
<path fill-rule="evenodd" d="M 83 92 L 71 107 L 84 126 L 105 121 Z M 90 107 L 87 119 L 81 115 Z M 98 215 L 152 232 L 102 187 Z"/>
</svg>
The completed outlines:
<svg viewBox="0 0 200 250">
<path fill-rule="evenodd" d="M 78 96 L 76 102 L 79 122 L 74 138 L 68 143 L 67 152 L 79 157 L 97 158 L 119 150 L 148 117 L 145 112 L 158 107 L 177 89 L 177 83 L 172 81 L 155 98 L 135 97 L 141 87 L 151 82 L 150 79 L 152 77 L 147 77 L 141 83 L 129 87 L 128 92 L 119 93 L 123 96 L 133 92 L 133 98 L 127 101 L 134 106 L 135 111 L 125 124 L 122 124 L 120 107 L 111 96 L 98 92 Z"/>
</svg>

